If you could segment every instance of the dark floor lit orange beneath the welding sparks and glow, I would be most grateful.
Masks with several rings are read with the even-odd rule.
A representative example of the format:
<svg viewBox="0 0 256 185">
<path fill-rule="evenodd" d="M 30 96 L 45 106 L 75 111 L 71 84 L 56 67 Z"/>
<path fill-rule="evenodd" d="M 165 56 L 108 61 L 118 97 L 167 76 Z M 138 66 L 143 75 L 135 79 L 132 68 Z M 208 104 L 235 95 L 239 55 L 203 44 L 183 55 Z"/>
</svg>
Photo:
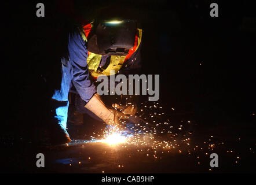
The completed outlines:
<svg viewBox="0 0 256 185">
<path fill-rule="evenodd" d="M 152 111 L 145 111 L 144 104 L 141 105 L 144 113 L 138 113 L 142 115 L 141 119 L 146 117 L 145 120 L 154 125 L 151 128 L 156 128 L 157 132 L 153 140 L 146 137 L 144 144 L 110 146 L 92 142 L 92 136 L 97 138 L 97 133 L 105 126 L 88 117 L 84 125 L 68 126 L 73 139 L 69 145 L 39 146 L 21 138 L 18 142 L 17 139 L 2 138 L 4 170 L 43 173 L 255 172 L 254 124 L 200 125 L 191 120 L 193 114 L 189 113 L 167 111 L 158 117 L 158 111 L 163 112 L 164 109 L 158 109 L 158 106 L 153 117 L 148 115 Z M 152 108 L 148 107 L 149 110 Z M 169 120 L 168 125 L 163 124 L 167 123 L 164 122 L 166 119 Z M 36 168 L 37 153 L 45 155 L 45 168 Z M 211 153 L 218 154 L 218 168 L 210 167 Z"/>
</svg>

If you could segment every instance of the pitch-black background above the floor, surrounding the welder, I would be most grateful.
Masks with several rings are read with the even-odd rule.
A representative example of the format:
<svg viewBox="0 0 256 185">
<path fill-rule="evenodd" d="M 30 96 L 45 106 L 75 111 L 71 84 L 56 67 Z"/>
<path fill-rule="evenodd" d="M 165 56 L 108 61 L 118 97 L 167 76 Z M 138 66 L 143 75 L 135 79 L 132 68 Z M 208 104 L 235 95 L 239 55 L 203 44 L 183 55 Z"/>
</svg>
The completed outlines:
<svg viewBox="0 0 256 185">
<path fill-rule="evenodd" d="M 36 17 L 36 3 L 45 17 Z M 107 2 L 74 1 L 86 16 Z M 217 2 L 219 17 L 210 17 Z M 160 102 L 204 125 L 255 123 L 255 10 L 247 1 L 111 1 L 143 29 L 142 73 L 160 74 Z M 1 139 L 30 138 L 59 77 L 58 31 L 72 22 L 58 1 L 2 2 Z M 92 8 L 91 8 L 92 7 Z M 87 10 L 88 13 L 85 13 Z M 65 10 L 64 10 L 65 12 Z M 128 13 L 129 11 L 127 11 Z M 127 14 L 126 14 L 127 16 Z M 201 64 L 201 65 L 200 65 Z M 50 79 L 49 77 L 49 79 Z M 55 81 L 53 80 L 54 83 Z"/>
</svg>

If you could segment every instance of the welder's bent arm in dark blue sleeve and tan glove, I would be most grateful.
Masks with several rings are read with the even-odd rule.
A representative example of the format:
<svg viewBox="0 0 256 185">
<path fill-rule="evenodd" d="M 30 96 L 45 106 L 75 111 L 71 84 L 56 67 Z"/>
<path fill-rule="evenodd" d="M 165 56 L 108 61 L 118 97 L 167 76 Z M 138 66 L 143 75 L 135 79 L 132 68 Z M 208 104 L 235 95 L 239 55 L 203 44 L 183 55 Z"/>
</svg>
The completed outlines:
<svg viewBox="0 0 256 185">
<path fill-rule="evenodd" d="M 76 91 L 86 102 L 85 108 L 92 111 L 96 116 L 107 124 L 118 124 L 118 120 L 114 121 L 114 112 L 111 112 L 100 96 L 97 94 L 96 87 L 92 79 L 90 79 L 87 66 L 87 48 L 80 32 L 75 30 L 69 36 L 68 50 L 70 53 L 70 61 L 73 67 L 73 79 Z"/>
</svg>

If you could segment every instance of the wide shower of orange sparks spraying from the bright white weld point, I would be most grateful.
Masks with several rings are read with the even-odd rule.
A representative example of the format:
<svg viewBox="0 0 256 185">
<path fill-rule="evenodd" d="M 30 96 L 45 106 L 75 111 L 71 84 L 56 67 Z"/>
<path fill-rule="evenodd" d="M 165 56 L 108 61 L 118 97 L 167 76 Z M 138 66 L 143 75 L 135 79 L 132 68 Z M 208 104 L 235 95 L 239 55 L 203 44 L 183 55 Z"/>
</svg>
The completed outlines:
<svg viewBox="0 0 256 185">
<path fill-rule="evenodd" d="M 213 135 L 198 142 L 193 137 L 194 121 L 189 119 L 171 121 L 170 112 L 174 112 L 174 108 L 164 112 L 163 106 L 160 106 L 158 102 L 141 102 L 139 106 L 140 109 L 136 115 L 119 120 L 122 123 L 120 125 L 108 125 L 105 129 L 93 132 L 90 136 L 92 139 L 86 140 L 86 143 L 106 143 L 111 147 L 126 150 L 127 155 L 123 157 L 137 158 L 139 154 L 155 162 L 169 158 L 169 155 L 173 153 L 182 153 L 195 157 L 196 166 L 202 165 L 201 160 L 208 159 L 211 153 L 225 146 L 224 138 L 215 138 Z M 250 147 L 249 152 L 254 153 L 253 147 Z M 234 158 L 235 164 L 239 164 L 241 158 L 239 153 L 231 147 L 226 153 Z M 118 165 L 117 168 L 122 169 L 121 166 L 123 168 L 124 165 Z M 100 172 L 106 171 L 102 169 Z"/>
</svg>

